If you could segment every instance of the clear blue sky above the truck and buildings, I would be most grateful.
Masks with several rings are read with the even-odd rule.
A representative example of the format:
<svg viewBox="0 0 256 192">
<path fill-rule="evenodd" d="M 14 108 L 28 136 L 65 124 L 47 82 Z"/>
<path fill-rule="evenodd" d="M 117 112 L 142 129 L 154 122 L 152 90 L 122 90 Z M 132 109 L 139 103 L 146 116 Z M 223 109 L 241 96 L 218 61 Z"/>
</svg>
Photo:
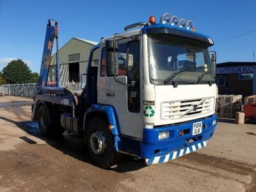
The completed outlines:
<svg viewBox="0 0 256 192">
<path fill-rule="evenodd" d="M 0 0 L 0 70 L 20 58 L 40 71 L 48 19 L 59 22 L 60 47 L 72 37 L 99 42 L 134 22 L 159 21 L 163 13 L 193 20 L 196 31 L 220 42 L 256 29 L 255 0 L 78 1 Z M 256 31 L 210 48 L 217 63 L 256 61 Z"/>
</svg>

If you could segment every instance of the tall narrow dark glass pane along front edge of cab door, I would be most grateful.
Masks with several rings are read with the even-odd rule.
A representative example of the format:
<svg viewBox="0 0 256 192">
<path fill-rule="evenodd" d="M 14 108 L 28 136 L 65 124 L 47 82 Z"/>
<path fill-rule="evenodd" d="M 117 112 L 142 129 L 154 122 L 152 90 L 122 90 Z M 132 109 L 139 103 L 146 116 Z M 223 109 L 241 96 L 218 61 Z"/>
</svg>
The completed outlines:
<svg viewBox="0 0 256 192">
<path fill-rule="evenodd" d="M 128 109 L 132 113 L 140 112 L 140 42 L 138 40 L 128 44 Z"/>
</svg>

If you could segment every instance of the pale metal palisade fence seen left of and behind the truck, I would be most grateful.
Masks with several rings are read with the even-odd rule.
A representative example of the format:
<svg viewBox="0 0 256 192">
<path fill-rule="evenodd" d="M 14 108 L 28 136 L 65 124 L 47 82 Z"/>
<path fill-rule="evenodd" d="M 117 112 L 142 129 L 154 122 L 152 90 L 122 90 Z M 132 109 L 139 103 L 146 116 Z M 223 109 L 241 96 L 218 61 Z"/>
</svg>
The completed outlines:
<svg viewBox="0 0 256 192">
<path fill-rule="evenodd" d="M 19 97 L 33 98 L 36 83 L 24 83 L 24 84 L 1 84 L 0 93 L 3 95 L 12 95 Z M 61 83 L 61 87 L 68 88 L 75 93 L 82 92 L 81 83 Z"/>
</svg>

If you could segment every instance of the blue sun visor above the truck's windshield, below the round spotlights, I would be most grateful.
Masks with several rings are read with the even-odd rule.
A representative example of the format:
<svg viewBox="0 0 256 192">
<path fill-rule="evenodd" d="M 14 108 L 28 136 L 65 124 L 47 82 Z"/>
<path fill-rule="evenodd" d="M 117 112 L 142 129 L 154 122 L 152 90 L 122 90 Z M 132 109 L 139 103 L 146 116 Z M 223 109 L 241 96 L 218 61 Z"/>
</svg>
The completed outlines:
<svg viewBox="0 0 256 192">
<path fill-rule="evenodd" d="M 214 45 L 212 39 L 209 38 L 208 36 L 205 36 L 200 33 L 196 33 L 195 31 L 189 31 L 188 29 L 181 29 L 181 28 L 177 28 L 177 27 L 173 27 L 173 28 L 161 27 L 161 28 L 159 28 L 156 26 L 148 26 L 148 27 L 143 28 L 143 33 L 144 34 L 145 33 L 147 33 L 147 34 L 162 33 L 162 34 L 184 36 L 184 37 L 192 38 L 195 40 L 199 40 L 201 42 L 205 42 L 205 44 L 207 44 L 208 47 L 211 47 L 212 45 Z"/>
</svg>

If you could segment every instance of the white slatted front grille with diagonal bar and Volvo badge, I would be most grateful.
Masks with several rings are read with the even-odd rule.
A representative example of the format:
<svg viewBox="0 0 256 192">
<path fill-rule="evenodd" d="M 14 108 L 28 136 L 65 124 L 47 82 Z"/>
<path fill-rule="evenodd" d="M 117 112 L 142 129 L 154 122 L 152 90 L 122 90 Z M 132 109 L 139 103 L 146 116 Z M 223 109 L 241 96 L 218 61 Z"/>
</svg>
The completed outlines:
<svg viewBox="0 0 256 192">
<path fill-rule="evenodd" d="M 214 97 L 163 102 L 161 109 L 162 119 L 177 119 L 202 115 L 214 110 Z"/>
</svg>

